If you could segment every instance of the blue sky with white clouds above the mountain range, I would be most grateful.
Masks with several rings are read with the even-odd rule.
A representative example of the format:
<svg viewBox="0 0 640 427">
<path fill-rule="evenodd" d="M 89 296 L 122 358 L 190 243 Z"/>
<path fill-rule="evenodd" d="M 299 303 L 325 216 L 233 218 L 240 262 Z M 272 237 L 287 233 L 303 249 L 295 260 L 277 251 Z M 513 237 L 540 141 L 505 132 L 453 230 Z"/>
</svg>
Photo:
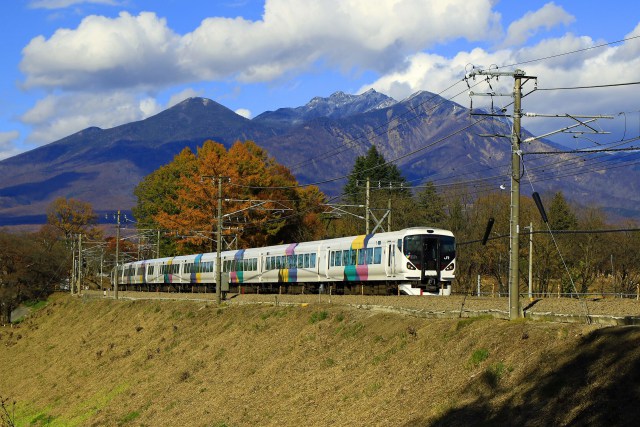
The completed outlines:
<svg viewBox="0 0 640 427">
<path fill-rule="evenodd" d="M 0 159 L 192 96 L 252 118 L 371 88 L 469 107 L 465 75 L 490 67 L 519 68 L 538 89 L 640 81 L 640 2 L 627 0 L 0 0 L 0 25 Z M 510 93 L 513 79 L 468 83 Z M 522 107 L 613 116 L 592 124 L 611 134 L 551 138 L 590 146 L 637 137 L 639 99 L 635 84 L 538 90 Z M 511 99 L 473 106 L 492 101 Z M 540 135 L 573 123 L 522 125 Z"/>
</svg>

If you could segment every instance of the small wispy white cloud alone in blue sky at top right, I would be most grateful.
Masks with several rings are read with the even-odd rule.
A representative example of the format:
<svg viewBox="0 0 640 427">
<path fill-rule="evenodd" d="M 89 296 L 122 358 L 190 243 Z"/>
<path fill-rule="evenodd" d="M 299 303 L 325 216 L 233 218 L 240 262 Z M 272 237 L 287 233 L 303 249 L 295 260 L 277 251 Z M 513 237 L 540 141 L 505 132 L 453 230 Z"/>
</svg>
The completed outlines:
<svg viewBox="0 0 640 427">
<path fill-rule="evenodd" d="M 535 12 L 527 12 L 522 18 L 509 25 L 503 46 L 519 46 L 534 36 L 540 28 L 547 30 L 556 25 L 568 25 L 575 17 L 562 7 L 550 2 Z"/>
</svg>

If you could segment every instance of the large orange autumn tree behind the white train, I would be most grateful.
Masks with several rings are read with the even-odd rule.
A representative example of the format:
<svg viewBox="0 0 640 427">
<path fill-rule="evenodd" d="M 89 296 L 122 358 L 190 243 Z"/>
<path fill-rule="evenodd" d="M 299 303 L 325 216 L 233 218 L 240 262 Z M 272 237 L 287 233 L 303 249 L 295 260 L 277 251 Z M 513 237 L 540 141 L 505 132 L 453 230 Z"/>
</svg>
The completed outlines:
<svg viewBox="0 0 640 427">
<path fill-rule="evenodd" d="M 225 241 L 235 238 L 238 248 L 243 248 L 321 236 L 324 194 L 317 187 L 299 187 L 289 169 L 254 142 L 238 141 L 227 151 L 222 144 L 206 141 L 195 154 L 183 152 L 174 161 L 180 162 L 180 168 L 167 165 L 163 172 L 156 171 L 179 172 L 173 188 L 153 176 L 156 172 L 139 188 L 170 200 L 155 203 L 152 218 L 178 237 L 178 252 L 216 249 L 218 177 L 223 177 Z"/>
</svg>

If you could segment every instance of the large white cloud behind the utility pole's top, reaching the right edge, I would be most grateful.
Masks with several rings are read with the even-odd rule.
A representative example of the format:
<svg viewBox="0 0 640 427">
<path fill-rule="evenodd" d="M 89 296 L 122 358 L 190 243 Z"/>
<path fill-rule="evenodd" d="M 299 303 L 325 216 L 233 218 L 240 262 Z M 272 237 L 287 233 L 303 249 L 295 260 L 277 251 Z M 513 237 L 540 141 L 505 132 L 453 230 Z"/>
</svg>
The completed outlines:
<svg viewBox="0 0 640 427">
<path fill-rule="evenodd" d="M 632 34 L 637 31 L 638 28 Z M 360 88 L 360 92 L 374 88 L 395 99 L 404 99 L 420 90 L 439 93 L 458 82 L 454 88 L 444 92 L 442 96 L 449 98 L 459 94 L 453 98 L 453 101 L 470 106 L 467 86 L 461 82 L 470 64 L 480 68 L 488 68 L 492 64 L 519 63 L 520 65 L 517 67 L 524 70 L 527 75 L 538 77 L 540 88 L 592 86 L 638 80 L 637 70 L 640 69 L 640 55 L 628 54 L 630 50 L 639 48 L 637 40 L 629 40 L 619 46 L 589 49 L 575 54 L 553 57 L 559 53 L 585 49 L 597 44 L 599 42 L 589 37 L 576 37 L 568 34 L 556 39 L 543 40 L 535 46 L 519 50 L 504 49 L 488 52 L 483 49 L 474 49 L 470 52 L 459 52 L 451 58 L 418 53 L 407 58 L 406 66 L 402 70 L 380 77 L 371 84 Z M 523 63 L 538 58 L 548 59 Z M 510 71 L 514 68 L 504 70 Z M 491 89 L 502 93 L 513 91 L 513 79 L 508 77 L 502 77 L 498 82 L 492 81 L 492 88 L 489 88 L 482 78 L 477 78 L 469 83 L 478 84 L 472 88 L 476 92 L 489 92 Z M 525 86 L 525 91 L 532 88 L 533 82 L 529 82 Z M 612 114 L 617 116 L 617 113 L 621 111 L 638 111 L 638 90 L 638 86 L 630 86 L 608 89 L 538 91 L 524 98 L 522 105 L 525 112 Z M 498 107 L 509 104 L 511 98 L 494 97 L 493 102 L 494 106 Z M 491 98 L 489 97 L 474 97 L 473 99 L 474 108 L 489 107 L 490 105 Z M 556 119 L 526 119 L 523 122 L 523 126 L 536 133 L 558 129 L 564 124 Z M 601 120 L 598 122 L 598 126 L 615 131 L 624 127 L 624 122 L 622 118 L 613 121 Z"/>
</svg>

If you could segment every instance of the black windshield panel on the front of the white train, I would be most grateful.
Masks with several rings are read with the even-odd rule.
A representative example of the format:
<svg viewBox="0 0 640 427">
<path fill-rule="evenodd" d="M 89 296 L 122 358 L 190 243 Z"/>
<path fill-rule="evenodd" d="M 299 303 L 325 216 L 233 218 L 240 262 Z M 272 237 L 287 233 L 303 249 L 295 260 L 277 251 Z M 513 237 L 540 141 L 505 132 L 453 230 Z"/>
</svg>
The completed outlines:
<svg viewBox="0 0 640 427">
<path fill-rule="evenodd" d="M 451 236 L 419 234 L 404 238 L 402 252 L 418 270 L 444 270 L 456 256 L 456 243 Z"/>
</svg>

